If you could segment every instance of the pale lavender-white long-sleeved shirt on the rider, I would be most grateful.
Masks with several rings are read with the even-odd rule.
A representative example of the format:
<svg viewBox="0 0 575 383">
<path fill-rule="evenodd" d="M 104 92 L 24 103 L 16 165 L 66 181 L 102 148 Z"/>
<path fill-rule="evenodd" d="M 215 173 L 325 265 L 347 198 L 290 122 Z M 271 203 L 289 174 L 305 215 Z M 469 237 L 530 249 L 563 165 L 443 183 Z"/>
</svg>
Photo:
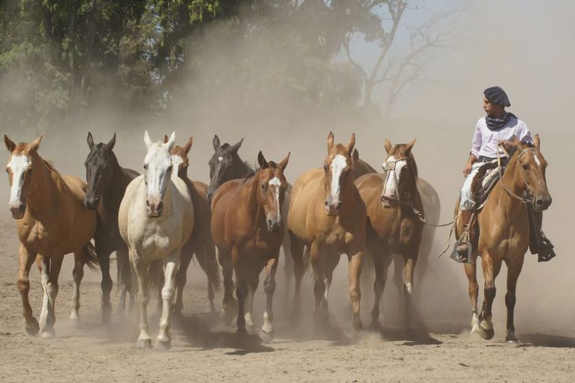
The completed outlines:
<svg viewBox="0 0 575 383">
<path fill-rule="evenodd" d="M 476 158 L 479 158 L 479 156 L 496 158 L 497 143 L 499 143 L 500 140 L 509 140 L 513 136 L 519 138 L 521 142 L 533 143 L 529 128 L 518 118 L 511 117 L 504 127 L 493 131 L 487 127 L 485 117 L 481 117 L 475 126 L 470 153 Z M 503 152 L 500 152 L 500 154 L 502 155 Z"/>
</svg>

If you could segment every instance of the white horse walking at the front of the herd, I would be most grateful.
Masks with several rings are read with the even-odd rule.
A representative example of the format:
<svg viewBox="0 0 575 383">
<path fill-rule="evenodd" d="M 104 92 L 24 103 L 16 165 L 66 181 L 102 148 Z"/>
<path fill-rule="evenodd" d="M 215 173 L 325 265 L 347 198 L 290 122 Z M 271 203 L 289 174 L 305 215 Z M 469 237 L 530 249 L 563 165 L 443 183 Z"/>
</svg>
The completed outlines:
<svg viewBox="0 0 575 383">
<path fill-rule="evenodd" d="M 146 131 L 147 154 L 144 174 L 129 183 L 118 214 L 120 234 L 129 249 L 129 259 L 138 278 L 140 304 L 139 348 L 151 347 L 148 335 L 147 304 L 149 286 L 161 283 L 160 273 L 149 273 L 149 266 L 163 262 L 162 318 L 156 349 L 171 347 L 169 334 L 175 292 L 176 269 L 182 247 L 194 230 L 194 205 L 186 183 L 173 172 L 169 152 L 176 141 L 172 133 L 167 143 L 152 143 Z"/>
</svg>

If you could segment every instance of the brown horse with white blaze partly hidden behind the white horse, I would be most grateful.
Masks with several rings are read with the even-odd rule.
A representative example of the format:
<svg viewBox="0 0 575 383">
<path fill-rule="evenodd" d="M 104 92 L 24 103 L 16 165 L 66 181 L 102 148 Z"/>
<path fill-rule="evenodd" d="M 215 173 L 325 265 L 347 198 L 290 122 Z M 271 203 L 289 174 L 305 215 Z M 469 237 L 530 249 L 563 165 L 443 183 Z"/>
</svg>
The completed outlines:
<svg viewBox="0 0 575 383">
<path fill-rule="evenodd" d="M 168 136 L 164 136 L 164 142 L 168 142 Z M 187 282 L 187 270 L 192 256 L 196 254 L 196 259 L 208 279 L 208 300 L 211 311 L 216 307 L 213 305 L 213 291 L 220 289 L 220 274 L 218 262 L 216 260 L 216 245 L 211 239 L 211 210 L 207 199 L 208 185 L 200 181 L 192 181 L 188 178 L 189 159 L 188 153 L 191 149 L 193 139 L 190 137 L 184 147 L 174 145 L 171 148 L 171 163 L 178 168 L 178 177 L 182 178 L 188 187 L 191 202 L 194 205 L 194 231 L 191 233 L 189 242 L 182 251 L 182 260 L 178 273 L 176 274 L 176 314 L 181 314 L 184 307 L 182 293 Z"/>
</svg>

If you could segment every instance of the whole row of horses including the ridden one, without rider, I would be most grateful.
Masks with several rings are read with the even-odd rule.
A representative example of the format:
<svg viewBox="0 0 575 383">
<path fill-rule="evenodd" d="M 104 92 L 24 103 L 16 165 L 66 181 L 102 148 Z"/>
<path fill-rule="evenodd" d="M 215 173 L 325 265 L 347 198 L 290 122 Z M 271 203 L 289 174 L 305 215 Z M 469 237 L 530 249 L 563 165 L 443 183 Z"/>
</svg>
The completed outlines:
<svg viewBox="0 0 575 383">
<path fill-rule="evenodd" d="M 6 167 L 9 206 L 17 220 L 20 241 L 17 282 L 25 330 L 29 334 L 39 333 L 42 327 L 41 336 L 54 336 L 58 278 L 67 253 L 74 253 L 75 262 L 70 318 L 79 318 L 84 265 L 99 265 L 102 317 L 103 322 L 109 322 L 110 255 L 115 252 L 121 287 L 117 310 L 135 309 L 138 304 L 138 347 L 151 347 L 147 305 L 151 293 L 157 293 L 161 318 L 156 348 L 170 348 L 171 318 L 182 312 L 187 268 L 194 255 L 207 275 L 212 311 L 214 291 L 220 287 L 221 267 L 224 286 L 221 318 L 229 323 L 237 315 L 239 333 L 254 330 L 253 296 L 265 269 L 266 306 L 260 337 L 269 342 L 274 336 L 273 294 L 282 247 L 287 287 L 291 288 L 292 268 L 295 277 L 296 318 L 301 309 L 302 276 L 311 265 L 315 282 L 314 320 L 320 326 L 328 324 L 333 271 L 340 256 L 346 254 L 353 328 L 362 329 L 360 282 L 364 260 L 375 271 L 370 327 L 379 328 L 381 294 L 388 267 L 394 260 L 395 276 L 403 285 L 406 301 L 405 325 L 412 327 L 415 265 L 420 253 L 424 254 L 421 261 L 426 261 L 435 231 L 433 224 L 439 218 L 439 197 L 417 172 L 412 154 L 415 140 L 399 145 L 386 140 L 384 172 L 380 174 L 359 158 L 355 134 L 343 144 L 335 143 L 330 132 L 323 166 L 304 172 L 292 186 L 284 175 L 289 153 L 280 162 L 274 162 L 259 152 L 258 168 L 253 169 L 238 155 L 243 139 L 229 145 L 220 144 L 218 136 L 214 137 L 209 185 L 188 178 L 192 138 L 180 147 L 175 143 L 175 134 L 153 142 L 146 131 L 143 174 L 138 174 L 119 165 L 114 154 L 115 134 L 108 143 L 96 144 L 89 133 L 87 182 L 60 174 L 42 158 L 41 139 L 39 136 L 32 143 L 17 144 L 4 136 L 10 152 Z M 473 254 L 474 259 L 481 257 L 485 276 L 485 299 L 479 314 L 476 263 L 464 266 L 469 278 L 472 332 L 481 333 L 485 339 L 494 335 L 491 321 L 494 279 L 505 262 L 509 270 L 505 296 L 507 340 L 516 342 L 515 287 L 530 227 L 527 211 L 512 194 L 532 196 L 539 210 L 547 209 L 550 204 L 545 180 L 547 163 L 539 150 L 539 136 L 534 143 L 534 147 L 514 143 L 503 182 L 496 185 L 479 212 L 481 233 Z M 539 203 L 541 200 L 544 202 Z M 456 211 L 454 225 L 461 232 L 457 217 Z M 39 320 L 32 315 L 28 300 L 29 273 L 34 262 L 41 273 L 43 289 Z"/>
</svg>

